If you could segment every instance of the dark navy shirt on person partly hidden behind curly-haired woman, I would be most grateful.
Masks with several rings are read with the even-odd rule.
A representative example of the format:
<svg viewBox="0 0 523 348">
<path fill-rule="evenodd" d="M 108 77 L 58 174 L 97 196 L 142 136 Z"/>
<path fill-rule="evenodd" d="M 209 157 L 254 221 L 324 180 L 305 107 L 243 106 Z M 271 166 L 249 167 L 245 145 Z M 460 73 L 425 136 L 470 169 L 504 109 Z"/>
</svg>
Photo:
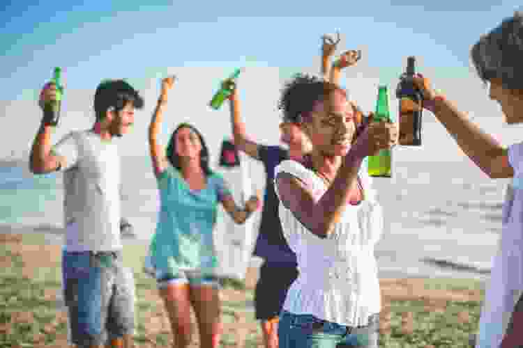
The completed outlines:
<svg viewBox="0 0 523 348">
<path fill-rule="evenodd" d="M 258 155 L 267 175 L 264 207 L 254 255 L 270 263 L 296 265 L 296 255 L 287 245 L 279 218 L 280 201 L 274 191 L 274 169 L 281 161 L 289 159 L 289 152 L 280 146 L 259 145 Z"/>
</svg>

